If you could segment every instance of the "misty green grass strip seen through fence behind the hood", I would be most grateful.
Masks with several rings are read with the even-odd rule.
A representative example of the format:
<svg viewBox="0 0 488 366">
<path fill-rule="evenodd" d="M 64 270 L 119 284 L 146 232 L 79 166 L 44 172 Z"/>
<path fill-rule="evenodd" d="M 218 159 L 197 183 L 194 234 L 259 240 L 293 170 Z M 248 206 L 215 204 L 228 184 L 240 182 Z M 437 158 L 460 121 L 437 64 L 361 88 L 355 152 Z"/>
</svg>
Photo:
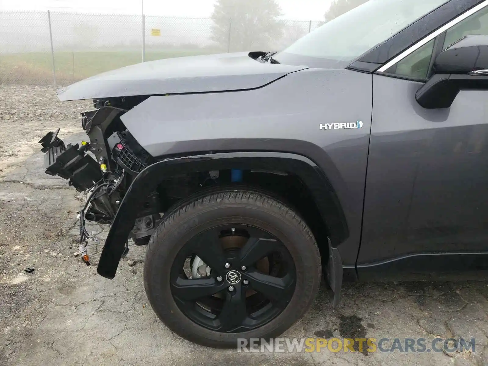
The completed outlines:
<svg viewBox="0 0 488 366">
<path fill-rule="evenodd" d="M 211 48 L 146 50 L 145 61 L 219 52 Z M 55 52 L 58 84 L 66 85 L 104 71 L 141 62 L 140 51 Z M 0 55 L 0 83 L 47 85 L 53 83 L 50 53 L 30 52 Z"/>
</svg>

